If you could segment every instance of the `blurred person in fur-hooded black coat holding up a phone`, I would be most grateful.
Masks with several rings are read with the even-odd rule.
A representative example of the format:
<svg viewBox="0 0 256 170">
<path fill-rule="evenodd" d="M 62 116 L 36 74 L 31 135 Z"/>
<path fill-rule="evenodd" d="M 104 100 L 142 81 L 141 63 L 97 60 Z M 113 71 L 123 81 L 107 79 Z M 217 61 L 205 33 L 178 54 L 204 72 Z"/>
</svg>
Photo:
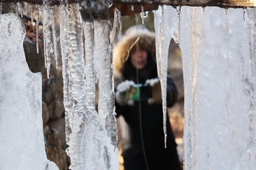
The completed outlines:
<svg viewBox="0 0 256 170">
<path fill-rule="evenodd" d="M 166 121 L 167 148 L 164 147 L 155 46 L 154 32 L 137 25 L 129 28 L 114 48 L 113 70 L 115 81 L 119 82 L 115 88 L 115 112 L 125 119 L 121 126 L 125 170 L 180 169 L 170 121 Z M 167 106 L 172 107 L 176 98 L 176 86 L 168 74 Z"/>
</svg>

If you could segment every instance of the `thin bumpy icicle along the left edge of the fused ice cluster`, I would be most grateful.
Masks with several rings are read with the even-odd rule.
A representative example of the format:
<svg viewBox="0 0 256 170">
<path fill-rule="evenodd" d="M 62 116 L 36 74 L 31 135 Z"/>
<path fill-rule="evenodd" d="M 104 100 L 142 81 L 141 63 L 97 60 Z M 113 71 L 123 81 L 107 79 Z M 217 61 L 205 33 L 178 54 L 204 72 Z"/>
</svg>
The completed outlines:
<svg viewBox="0 0 256 170">
<path fill-rule="evenodd" d="M 61 59 L 62 59 L 62 76 L 63 76 L 63 103 L 65 107 L 65 134 L 66 142 L 69 145 L 71 135 L 71 118 L 69 109 L 69 42 L 68 42 L 68 20 L 69 10 L 67 0 L 61 1 L 59 6 L 59 28 L 60 28 L 60 43 L 61 43 Z M 69 149 L 66 150 L 69 156 Z"/>
</svg>

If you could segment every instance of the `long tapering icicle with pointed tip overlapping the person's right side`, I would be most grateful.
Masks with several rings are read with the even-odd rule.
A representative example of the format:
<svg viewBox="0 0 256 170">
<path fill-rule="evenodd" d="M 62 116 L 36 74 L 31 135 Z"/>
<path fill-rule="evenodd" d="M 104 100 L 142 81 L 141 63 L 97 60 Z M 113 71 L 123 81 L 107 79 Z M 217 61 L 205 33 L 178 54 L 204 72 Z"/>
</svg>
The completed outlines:
<svg viewBox="0 0 256 170">
<path fill-rule="evenodd" d="M 177 40 L 178 16 L 174 7 L 164 5 L 158 8 L 154 16 L 154 27 L 156 29 L 156 62 L 158 66 L 158 77 L 162 88 L 162 105 L 164 114 L 164 142 L 166 147 L 166 84 L 168 69 L 168 50 L 174 38 Z"/>
</svg>

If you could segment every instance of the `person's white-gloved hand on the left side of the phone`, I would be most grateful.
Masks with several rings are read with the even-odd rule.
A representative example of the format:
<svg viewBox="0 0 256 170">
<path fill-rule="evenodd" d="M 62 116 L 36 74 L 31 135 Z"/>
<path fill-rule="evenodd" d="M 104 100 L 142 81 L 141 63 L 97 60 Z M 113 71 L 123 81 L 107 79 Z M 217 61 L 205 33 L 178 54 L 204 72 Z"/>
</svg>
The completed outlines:
<svg viewBox="0 0 256 170">
<path fill-rule="evenodd" d="M 115 93 L 115 99 L 119 105 L 127 105 L 128 102 L 126 100 L 126 92 L 134 86 L 135 83 L 133 81 L 125 80 L 117 85 L 117 92 Z"/>
</svg>

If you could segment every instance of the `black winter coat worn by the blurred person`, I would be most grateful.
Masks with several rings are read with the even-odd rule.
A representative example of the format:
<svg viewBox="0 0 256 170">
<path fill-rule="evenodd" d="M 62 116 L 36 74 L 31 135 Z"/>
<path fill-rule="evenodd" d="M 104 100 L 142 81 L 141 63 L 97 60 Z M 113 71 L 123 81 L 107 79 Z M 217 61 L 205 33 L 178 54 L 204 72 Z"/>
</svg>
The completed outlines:
<svg viewBox="0 0 256 170">
<path fill-rule="evenodd" d="M 146 30 L 143 30 L 143 32 L 144 31 L 146 32 Z M 145 38 L 146 40 L 144 40 Z M 132 39 L 134 40 L 135 38 L 127 38 L 127 40 Z M 147 34 L 144 35 L 144 39 L 142 39 L 144 42 L 154 43 L 154 39 L 148 40 Z M 131 42 L 127 42 L 127 44 L 131 44 Z M 146 47 L 144 47 L 143 45 L 146 45 Z M 147 49 L 149 46 L 150 44 L 147 43 L 143 43 L 140 45 L 142 49 L 148 51 L 148 62 L 144 70 L 140 71 L 139 74 L 137 74 L 135 67 L 131 65 L 129 59 L 123 62 L 123 65 L 121 67 L 120 65 L 118 65 L 119 75 L 121 75 L 119 76 L 119 78 L 121 78 L 122 81 L 132 80 L 133 82 L 137 83 L 138 76 L 139 83 L 144 83 L 148 79 L 158 77 L 154 51 L 151 50 L 152 48 Z M 119 52 L 120 51 L 117 51 L 117 53 Z M 123 56 L 125 55 L 127 54 L 124 54 Z M 150 92 L 150 88 L 141 88 L 141 98 L 150 97 L 150 94 L 152 94 L 152 92 Z M 168 107 L 172 107 L 172 105 L 174 105 L 176 97 L 176 86 L 174 84 L 174 81 L 172 80 L 172 77 L 168 75 Z M 123 125 L 121 125 L 123 146 L 122 156 L 124 159 L 125 170 L 144 170 L 147 169 L 146 163 L 149 170 L 179 169 L 179 160 L 176 151 L 177 145 L 174 139 L 174 134 L 172 133 L 172 128 L 170 126 L 168 116 L 168 121 L 166 122 L 167 148 L 164 148 L 162 104 L 148 104 L 147 100 L 141 100 L 140 108 L 139 101 L 134 101 L 134 105 L 132 106 L 120 106 L 118 105 L 117 101 L 115 101 L 115 112 L 117 113 L 117 117 L 122 115 L 125 119 L 125 122 L 123 123 Z M 146 154 L 146 159 L 144 157 L 143 148 Z"/>
</svg>

